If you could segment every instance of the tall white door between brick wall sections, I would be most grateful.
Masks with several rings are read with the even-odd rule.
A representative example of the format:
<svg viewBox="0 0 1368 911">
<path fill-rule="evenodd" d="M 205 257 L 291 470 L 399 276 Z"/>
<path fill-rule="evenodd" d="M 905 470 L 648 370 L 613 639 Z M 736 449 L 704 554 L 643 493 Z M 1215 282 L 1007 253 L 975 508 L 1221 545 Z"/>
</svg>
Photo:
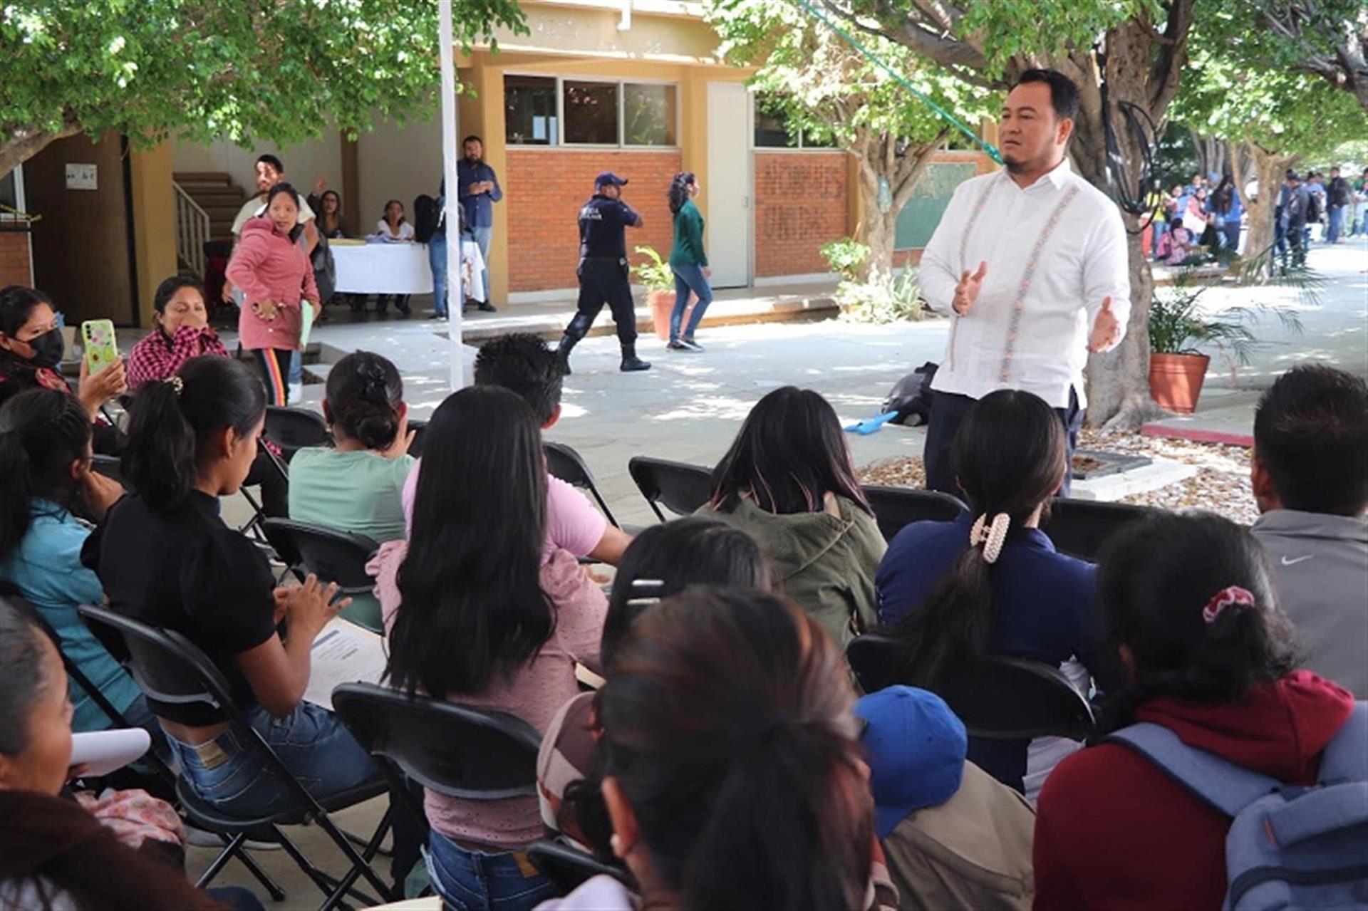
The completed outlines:
<svg viewBox="0 0 1368 911">
<path fill-rule="evenodd" d="M 713 287 L 751 279 L 750 97 L 740 82 L 707 83 L 707 261 Z"/>
</svg>

